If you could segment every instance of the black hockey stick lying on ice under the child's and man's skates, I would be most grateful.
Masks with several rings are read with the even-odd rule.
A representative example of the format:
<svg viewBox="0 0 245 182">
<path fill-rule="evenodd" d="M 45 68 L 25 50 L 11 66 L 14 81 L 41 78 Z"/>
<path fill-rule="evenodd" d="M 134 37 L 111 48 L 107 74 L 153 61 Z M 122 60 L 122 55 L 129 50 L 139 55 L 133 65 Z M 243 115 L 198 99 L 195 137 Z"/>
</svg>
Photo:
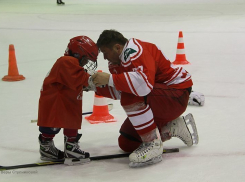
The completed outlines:
<svg viewBox="0 0 245 182">
<path fill-rule="evenodd" d="M 174 153 L 174 152 L 179 152 L 179 148 L 163 149 L 163 154 Z M 129 154 L 130 153 L 94 156 L 94 157 L 90 157 L 90 160 L 91 161 L 98 161 L 98 160 L 105 160 L 105 159 L 123 158 L 123 157 L 128 157 Z M 39 167 L 39 166 L 50 166 L 50 165 L 58 165 L 58 164 L 64 164 L 64 160 L 31 163 L 31 164 L 23 164 L 23 165 L 14 165 L 14 166 L 0 166 L 0 171 L 11 170 L 11 169 Z"/>
</svg>

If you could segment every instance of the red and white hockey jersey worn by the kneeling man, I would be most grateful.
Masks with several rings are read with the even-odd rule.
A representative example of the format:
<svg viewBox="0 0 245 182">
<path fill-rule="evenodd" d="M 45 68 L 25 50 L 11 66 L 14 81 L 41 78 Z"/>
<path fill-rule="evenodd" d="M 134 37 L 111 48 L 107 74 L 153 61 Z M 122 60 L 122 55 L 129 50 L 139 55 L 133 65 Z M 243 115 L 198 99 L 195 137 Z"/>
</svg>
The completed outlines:
<svg viewBox="0 0 245 182">
<path fill-rule="evenodd" d="M 129 39 L 119 57 L 121 65 L 109 64 L 112 77 L 110 86 L 117 90 L 145 96 L 155 83 L 171 88 L 184 89 L 192 86 L 191 75 L 182 67 L 175 67 L 154 44 Z"/>
</svg>

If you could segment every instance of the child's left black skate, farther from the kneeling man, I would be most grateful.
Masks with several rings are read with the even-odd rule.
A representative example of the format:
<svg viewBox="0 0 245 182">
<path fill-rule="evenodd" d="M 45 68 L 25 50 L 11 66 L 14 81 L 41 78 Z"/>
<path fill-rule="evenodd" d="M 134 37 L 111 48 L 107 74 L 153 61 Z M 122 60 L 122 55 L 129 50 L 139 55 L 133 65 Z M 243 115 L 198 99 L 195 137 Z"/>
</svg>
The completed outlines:
<svg viewBox="0 0 245 182">
<path fill-rule="evenodd" d="M 60 151 L 54 146 L 54 141 L 51 140 L 42 140 L 42 135 L 38 137 L 40 144 L 40 159 L 43 161 L 56 161 L 64 160 L 64 152 Z"/>
</svg>

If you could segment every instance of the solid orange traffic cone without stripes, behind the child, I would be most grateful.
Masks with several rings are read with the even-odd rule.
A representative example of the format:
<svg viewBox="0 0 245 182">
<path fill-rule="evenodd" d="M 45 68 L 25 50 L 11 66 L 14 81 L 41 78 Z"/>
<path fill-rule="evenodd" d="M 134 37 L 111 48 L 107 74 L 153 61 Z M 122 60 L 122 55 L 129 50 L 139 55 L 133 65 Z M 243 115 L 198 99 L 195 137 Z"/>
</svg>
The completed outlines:
<svg viewBox="0 0 245 182">
<path fill-rule="evenodd" d="M 15 58 L 15 50 L 14 45 L 9 45 L 9 70 L 8 75 L 2 78 L 3 81 L 20 81 L 24 80 L 25 77 L 23 75 L 19 75 L 16 58 Z"/>
</svg>

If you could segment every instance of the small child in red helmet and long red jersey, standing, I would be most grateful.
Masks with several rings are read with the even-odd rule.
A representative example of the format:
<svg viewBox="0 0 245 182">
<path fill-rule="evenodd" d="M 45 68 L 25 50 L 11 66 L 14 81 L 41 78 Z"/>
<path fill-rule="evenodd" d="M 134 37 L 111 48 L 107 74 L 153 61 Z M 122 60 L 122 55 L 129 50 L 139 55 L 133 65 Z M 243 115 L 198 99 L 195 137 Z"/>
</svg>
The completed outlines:
<svg viewBox="0 0 245 182">
<path fill-rule="evenodd" d="M 90 77 L 85 69 L 96 69 L 97 56 L 98 48 L 89 37 L 74 37 L 70 39 L 64 56 L 57 59 L 44 79 L 37 123 L 41 132 L 39 151 L 42 160 L 65 158 L 68 165 L 89 161 L 89 153 L 78 145 L 81 138 L 78 129 L 82 123 L 83 89 L 88 87 Z M 53 142 L 61 128 L 65 137 L 64 152 Z"/>
</svg>

